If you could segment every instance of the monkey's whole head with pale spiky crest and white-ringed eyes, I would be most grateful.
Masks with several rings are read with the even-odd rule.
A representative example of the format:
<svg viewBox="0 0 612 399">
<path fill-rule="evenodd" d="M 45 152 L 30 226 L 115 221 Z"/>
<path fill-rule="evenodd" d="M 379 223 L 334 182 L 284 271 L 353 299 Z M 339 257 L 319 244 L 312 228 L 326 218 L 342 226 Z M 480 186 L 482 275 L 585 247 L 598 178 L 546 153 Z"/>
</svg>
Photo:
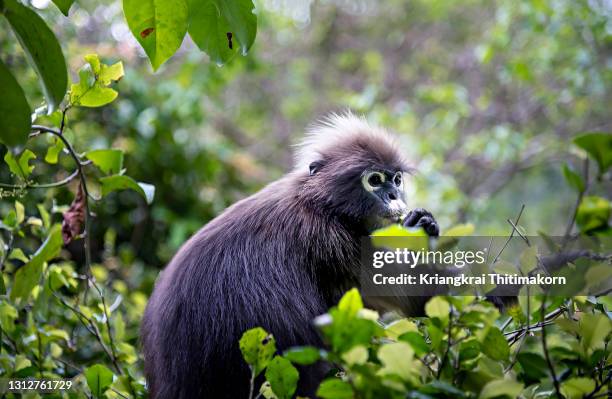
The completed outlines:
<svg viewBox="0 0 612 399">
<path fill-rule="evenodd" d="M 297 153 L 304 201 L 370 232 L 408 212 L 410 167 L 383 129 L 350 113 L 313 127 Z"/>
</svg>

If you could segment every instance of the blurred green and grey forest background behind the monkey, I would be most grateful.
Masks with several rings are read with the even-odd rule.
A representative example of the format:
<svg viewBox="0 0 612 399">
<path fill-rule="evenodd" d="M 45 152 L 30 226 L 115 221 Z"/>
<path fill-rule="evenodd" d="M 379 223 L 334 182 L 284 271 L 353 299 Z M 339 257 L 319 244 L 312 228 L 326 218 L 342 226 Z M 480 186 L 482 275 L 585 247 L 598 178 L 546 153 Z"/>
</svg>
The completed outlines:
<svg viewBox="0 0 612 399">
<path fill-rule="evenodd" d="M 218 67 L 187 38 L 155 74 L 120 2 L 80 1 L 70 18 L 33 5 L 55 21 L 70 70 L 92 52 L 125 65 L 119 99 L 75 110 L 69 127 L 77 149 L 122 148 L 130 175 L 156 186 L 151 207 L 120 193 L 95 207 L 94 223 L 98 250 L 111 228 L 126 256 L 152 267 L 288 171 L 291 145 L 331 111 L 397 132 L 418 170 L 410 205 L 443 229 L 469 221 L 482 234 L 506 233 L 521 204 L 530 233 L 562 233 L 569 138 L 612 127 L 607 1 L 266 0 L 248 56 Z M 34 72 L 21 71 L 33 98 Z"/>
</svg>

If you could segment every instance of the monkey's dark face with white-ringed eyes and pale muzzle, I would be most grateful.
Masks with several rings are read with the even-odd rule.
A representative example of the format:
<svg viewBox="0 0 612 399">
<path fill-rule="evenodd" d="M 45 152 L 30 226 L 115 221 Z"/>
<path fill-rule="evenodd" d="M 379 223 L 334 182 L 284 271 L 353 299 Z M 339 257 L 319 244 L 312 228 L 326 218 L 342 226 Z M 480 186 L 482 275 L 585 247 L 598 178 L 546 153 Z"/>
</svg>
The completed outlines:
<svg viewBox="0 0 612 399">
<path fill-rule="evenodd" d="M 398 223 L 408 211 L 404 201 L 403 172 L 366 169 L 361 175 L 361 186 L 372 204 L 366 217 L 372 230 Z"/>
</svg>

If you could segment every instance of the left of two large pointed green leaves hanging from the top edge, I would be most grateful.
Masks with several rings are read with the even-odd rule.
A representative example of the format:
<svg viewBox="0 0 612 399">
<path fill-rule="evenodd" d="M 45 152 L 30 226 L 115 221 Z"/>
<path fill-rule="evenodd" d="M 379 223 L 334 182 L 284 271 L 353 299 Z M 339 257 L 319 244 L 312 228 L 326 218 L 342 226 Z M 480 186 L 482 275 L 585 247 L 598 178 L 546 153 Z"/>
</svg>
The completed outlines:
<svg viewBox="0 0 612 399">
<path fill-rule="evenodd" d="M 123 0 L 123 13 L 153 70 L 172 57 L 187 33 L 187 0 Z"/>
</svg>

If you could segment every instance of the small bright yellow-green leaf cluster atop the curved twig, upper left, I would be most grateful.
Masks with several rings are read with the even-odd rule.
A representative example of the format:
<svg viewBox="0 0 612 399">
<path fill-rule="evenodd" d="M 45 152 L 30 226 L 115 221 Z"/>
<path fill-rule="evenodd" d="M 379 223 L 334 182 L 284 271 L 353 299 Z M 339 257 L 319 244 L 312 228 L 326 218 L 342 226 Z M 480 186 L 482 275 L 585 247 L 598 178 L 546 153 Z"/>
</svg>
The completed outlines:
<svg viewBox="0 0 612 399">
<path fill-rule="evenodd" d="M 87 64 L 79 71 L 79 83 L 70 86 L 70 104 L 81 107 L 101 107 L 117 98 L 117 91 L 109 88 L 123 77 L 123 63 L 106 65 L 97 54 L 85 56 Z"/>
</svg>

